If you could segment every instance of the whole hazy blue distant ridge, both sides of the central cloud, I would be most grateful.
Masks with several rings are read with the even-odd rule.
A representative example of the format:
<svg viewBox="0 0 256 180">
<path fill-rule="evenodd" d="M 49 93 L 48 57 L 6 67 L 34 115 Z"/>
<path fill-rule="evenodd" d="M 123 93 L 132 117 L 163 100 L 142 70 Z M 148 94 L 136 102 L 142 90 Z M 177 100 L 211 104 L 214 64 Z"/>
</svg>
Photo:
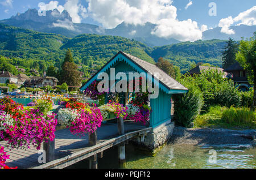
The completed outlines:
<svg viewBox="0 0 256 180">
<path fill-rule="evenodd" d="M 152 35 L 156 24 L 147 22 L 143 25 L 127 24 L 122 22 L 117 27 L 105 29 L 98 25 L 88 23 L 73 23 L 68 11 L 59 12 L 57 9 L 46 11 L 45 16 L 39 16 L 38 10 L 28 9 L 23 14 L 17 13 L 10 19 L 0 20 L 0 23 L 12 25 L 14 27 L 32 29 L 34 31 L 56 33 L 66 37 L 75 37 L 80 34 L 111 35 L 129 38 L 131 40 L 141 41 L 151 48 L 155 46 L 164 46 L 177 44 L 181 41 L 175 38 L 164 38 Z M 221 39 L 228 40 L 229 37 L 234 40 L 241 40 L 241 37 L 249 38 L 256 31 L 256 25 L 240 25 L 230 27 L 236 32 L 234 35 L 227 35 L 221 32 L 220 27 L 208 29 L 203 32 L 202 40 Z"/>
</svg>

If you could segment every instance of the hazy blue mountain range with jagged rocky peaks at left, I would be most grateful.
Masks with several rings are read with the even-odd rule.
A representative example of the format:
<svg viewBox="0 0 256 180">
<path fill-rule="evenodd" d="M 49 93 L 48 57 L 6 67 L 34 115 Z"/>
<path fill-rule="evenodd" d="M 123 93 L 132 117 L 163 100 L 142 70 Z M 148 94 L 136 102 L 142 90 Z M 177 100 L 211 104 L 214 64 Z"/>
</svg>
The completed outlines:
<svg viewBox="0 0 256 180">
<path fill-rule="evenodd" d="M 141 41 L 151 47 L 180 42 L 174 38 L 151 35 L 156 24 L 133 25 L 123 22 L 113 29 L 104 29 L 98 25 L 73 23 L 66 10 L 60 14 L 57 9 L 46 11 L 45 16 L 38 15 L 36 9 L 28 9 L 23 14 L 18 13 L 10 19 L 0 20 L 0 23 L 39 32 L 56 33 L 66 37 L 75 37 L 81 34 L 121 36 Z"/>
</svg>

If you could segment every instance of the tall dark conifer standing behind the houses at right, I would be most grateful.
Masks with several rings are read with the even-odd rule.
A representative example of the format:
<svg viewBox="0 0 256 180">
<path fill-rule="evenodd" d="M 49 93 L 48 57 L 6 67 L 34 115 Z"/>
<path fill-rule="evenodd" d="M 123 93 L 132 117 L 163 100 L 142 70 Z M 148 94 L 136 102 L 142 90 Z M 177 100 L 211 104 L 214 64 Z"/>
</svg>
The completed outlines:
<svg viewBox="0 0 256 180">
<path fill-rule="evenodd" d="M 224 52 L 222 52 L 222 67 L 224 69 L 236 63 L 237 51 L 237 42 L 229 37 L 229 40 L 226 42 L 226 45 L 224 45 Z"/>
</svg>

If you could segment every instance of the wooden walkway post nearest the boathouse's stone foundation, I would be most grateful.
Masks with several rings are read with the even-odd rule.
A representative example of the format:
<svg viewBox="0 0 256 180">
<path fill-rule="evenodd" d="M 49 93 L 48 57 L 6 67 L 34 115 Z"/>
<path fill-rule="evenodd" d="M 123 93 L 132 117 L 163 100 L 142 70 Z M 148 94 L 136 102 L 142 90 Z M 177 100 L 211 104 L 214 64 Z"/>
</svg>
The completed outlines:
<svg viewBox="0 0 256 180">
<path fill-rule="evenodd" d="M 119 135 L 125 134 L 125 125 L 123 124 L 123 118 L 118 118 L 118 133 Z M 118 144 L 118 158 L 119 158 L 119 165 L 120 168 L 125 168 L 125 142 Z"/>
</svg>

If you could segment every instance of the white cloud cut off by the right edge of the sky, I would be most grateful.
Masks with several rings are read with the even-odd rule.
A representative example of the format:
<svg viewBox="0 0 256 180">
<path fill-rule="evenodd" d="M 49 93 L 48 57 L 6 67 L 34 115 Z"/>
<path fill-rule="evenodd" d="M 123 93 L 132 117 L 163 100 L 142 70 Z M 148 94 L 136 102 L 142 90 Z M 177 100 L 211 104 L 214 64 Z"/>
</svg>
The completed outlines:
<svg viewBox="0 0 256 180">
<path fill-rule="evenodd" d="M 240 22 L 240 23 L 238 23 Z M 230 29 L 230 25 L 256 25 L 256 6 L 251 7 L 249 10 L 241 12 L 236 18 L 229 16 L 228 18 L 221 19 L 218 26 L 221 27 L 221 32 L 228 35 L 234 34 L 234 30 Z"/>
</svg>

